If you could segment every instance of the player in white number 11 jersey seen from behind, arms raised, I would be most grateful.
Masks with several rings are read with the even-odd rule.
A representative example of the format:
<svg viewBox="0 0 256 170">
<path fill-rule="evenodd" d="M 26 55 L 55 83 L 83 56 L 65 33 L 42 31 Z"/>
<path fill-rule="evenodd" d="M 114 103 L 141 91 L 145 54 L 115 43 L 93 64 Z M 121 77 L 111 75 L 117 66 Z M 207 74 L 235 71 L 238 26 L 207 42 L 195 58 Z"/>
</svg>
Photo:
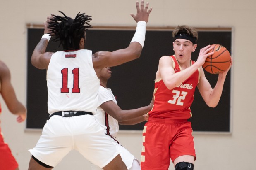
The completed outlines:
<svg viewBox="0 0 256 170">
<path fill-rule="evenodd" d="M 51 15 L 45 22 L 42 39 L 35 47 L 31 63 L 47 69 L 48 112 L 45 124 L 32 154 L 29 170 L 50 170 L 69 151 L 79 151 L 90 162 L 104 170 L 127 170 L 122 158 L 95 119 L 102 68 L 139 58 L 145 40 L 146 23 L 152 8 L 136 2 L 137 22 L 134 37 L 125 49 L 92 54 L 85 50 L 85 30 L 91 28 L 91 16 L 77 14 L 75 19 Z M 46 52 L 50 37 L 62 44 L 64 51 Z M 103 147 L 104 146 L 104 147 Z"/>
</svg>

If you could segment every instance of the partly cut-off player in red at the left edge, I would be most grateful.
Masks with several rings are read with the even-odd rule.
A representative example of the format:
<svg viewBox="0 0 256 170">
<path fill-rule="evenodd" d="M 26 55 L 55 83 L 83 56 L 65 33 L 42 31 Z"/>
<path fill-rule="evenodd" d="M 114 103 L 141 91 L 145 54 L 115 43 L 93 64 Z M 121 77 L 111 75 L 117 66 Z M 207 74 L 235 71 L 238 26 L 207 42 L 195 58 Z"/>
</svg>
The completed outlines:
<svg viewBox="0 0 256 170">
<path fill-rule="evenodd" d="M 14 89 L 11 84 L 10 70 L 7 65 L 0 61 L 0 92 L 2 98 L 5 100 L 10 112 L 17 116 L 18 123 L 26 119 L 26 108 L 16 98 Z M 0 105 L 0 114 L 2 112 Z M 8 144 L 4 142 L 0 128 L 0 169 L 1 170 L 19 170 L 18 163 L 16 162 Z"/>
</svg>

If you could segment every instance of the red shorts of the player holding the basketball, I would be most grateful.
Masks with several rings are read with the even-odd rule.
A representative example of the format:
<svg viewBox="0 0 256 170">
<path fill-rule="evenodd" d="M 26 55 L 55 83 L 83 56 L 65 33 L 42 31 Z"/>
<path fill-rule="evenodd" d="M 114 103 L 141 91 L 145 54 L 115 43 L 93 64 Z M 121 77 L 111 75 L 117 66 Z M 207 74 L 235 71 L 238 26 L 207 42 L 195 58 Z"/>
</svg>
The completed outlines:
<svg viewBox="0 0 256 170">
<path fill-rule="evenodd" d="M 179 156 L 192 155 L 196 159 L 191 122 L 187 119 L 159 119 L 149 117 L 143 130 L 141 170 L 168 170 Z"/>
</svg>

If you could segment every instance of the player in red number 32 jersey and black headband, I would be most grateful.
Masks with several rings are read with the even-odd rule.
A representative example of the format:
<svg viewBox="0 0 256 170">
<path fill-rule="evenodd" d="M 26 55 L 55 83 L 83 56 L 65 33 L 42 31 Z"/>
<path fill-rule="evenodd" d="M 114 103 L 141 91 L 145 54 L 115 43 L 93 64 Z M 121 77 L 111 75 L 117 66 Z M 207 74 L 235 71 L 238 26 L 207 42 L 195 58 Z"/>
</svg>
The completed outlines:
<svg viewBox="0 0 256 170">
<path fill-rule="evenodd" d="M 175 170 L 193 170 L 196 159 L 191 123 L 191 103 L 197 86 L 209 107 L 215 107 L 223 90 L 230 67 L 218 76 L 212 89 L 201 67 L 212 48 L 200 49 L 196 62 L 191 53 L 196 49 L 197 31 L 177 26 L 172 33 L 175 55 L 163 56 L 156 72 L 154 105 L 143 130 L 142 170 L 167 170 L 170 158 Z M 208 53 L 208 54 L 207 54 Z"/>
</svg>

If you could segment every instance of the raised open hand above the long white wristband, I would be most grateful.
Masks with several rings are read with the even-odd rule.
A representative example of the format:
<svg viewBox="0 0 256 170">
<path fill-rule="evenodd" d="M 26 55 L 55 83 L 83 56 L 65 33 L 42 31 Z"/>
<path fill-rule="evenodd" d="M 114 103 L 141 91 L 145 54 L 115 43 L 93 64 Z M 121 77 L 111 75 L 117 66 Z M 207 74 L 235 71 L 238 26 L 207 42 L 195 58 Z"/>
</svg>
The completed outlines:
<svg viewBox="0 0 256 170">
<path fill-rule="evenodd" d="M 145 21 L 146 23 L 148 22 L 148 17 L 150 12 L 152 11 L 152 7 L 148 9 L 148 2 L 146 4 L 146 7 L 144 8 L 144 1 L 141 0 L 141 6 L 139 7 L 139 2 L 136 2 L 136 8 L 137 8 L 137 14 L 131 14 L 131 16 L 134 18 L 136 22 L 139 21 Z"/>
</svg>

